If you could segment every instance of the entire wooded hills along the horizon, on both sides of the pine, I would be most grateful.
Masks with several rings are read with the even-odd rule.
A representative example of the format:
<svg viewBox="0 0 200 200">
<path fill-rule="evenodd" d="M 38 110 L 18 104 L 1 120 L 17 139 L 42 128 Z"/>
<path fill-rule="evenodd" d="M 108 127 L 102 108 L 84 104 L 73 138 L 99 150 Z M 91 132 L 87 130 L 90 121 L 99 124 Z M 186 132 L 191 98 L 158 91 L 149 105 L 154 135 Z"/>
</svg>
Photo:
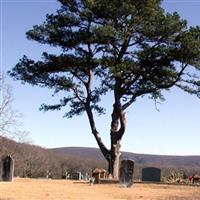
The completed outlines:
<svg viewBox="0 0 200 200">
<path fill-rule="evenodd" d="M 15 160 L 15 176 L 20 177 L 64 177 L 66 172 L 91 173 L 96 167 L 107 168 L 107 163 L 97 148 L 63 147 L 45 149 L 36 145 L 17 143 L 0 137 L 0 156 L 12 155 Z M 121 159 L 135 160 L 136 178 L 147 166 L 159 167 L 162 175 L 170 170 L 184 170 L 187 175 L 200 174 L 200 156 L 160 156 L 122 152 Z"/>
</svg>

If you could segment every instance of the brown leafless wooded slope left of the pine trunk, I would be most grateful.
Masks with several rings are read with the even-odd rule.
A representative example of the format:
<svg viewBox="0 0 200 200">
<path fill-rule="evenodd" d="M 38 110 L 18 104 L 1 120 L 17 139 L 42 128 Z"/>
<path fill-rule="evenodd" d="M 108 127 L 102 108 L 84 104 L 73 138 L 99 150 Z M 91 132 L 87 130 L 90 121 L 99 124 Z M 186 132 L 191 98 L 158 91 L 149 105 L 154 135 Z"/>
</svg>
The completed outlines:
<svg viewBox="0 0 200 200">
<path fill-rule="evenodd" d="M 91 174 L 92 170 L 105 168 L 105 162 L 81 157 L 64 156 L 51 149 L 28 143 L 19 143 L 0 136 L 0 158 L 11 155 L 14 159 L 14 175 L 28 178 L 59 178 L 66 173 L 82 172 Z"/>
</svg>

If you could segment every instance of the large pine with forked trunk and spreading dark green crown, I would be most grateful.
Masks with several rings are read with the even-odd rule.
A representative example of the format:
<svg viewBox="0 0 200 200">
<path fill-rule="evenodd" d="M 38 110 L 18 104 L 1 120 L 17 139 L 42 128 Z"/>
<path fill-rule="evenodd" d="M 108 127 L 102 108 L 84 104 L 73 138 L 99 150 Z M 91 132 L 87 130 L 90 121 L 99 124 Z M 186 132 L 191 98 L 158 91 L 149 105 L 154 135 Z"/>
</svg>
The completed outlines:
<svg viewBox="0 0 200 200">
<path fill-rule="evenodd" d="M 200 96 L 200 28 L 188 27 L 177 13 L 165 13 L 161 0 L 59 0 L 61 8 L 33 26 L 27 38 L 60 47 L 44 52 L 41 61 L 24 56 L 10 71 L 17 80 L 64 91 L 67 96 L 43 110 L 68 106 L 67 117 L 86 112 L 92 133 L 118 178 L 125 111 L 138 97 L 163 99 L 176 86 Z M 94 111 L 103 95 L 114 97 L 111 146 L 98 132 Z"/>
</svg>

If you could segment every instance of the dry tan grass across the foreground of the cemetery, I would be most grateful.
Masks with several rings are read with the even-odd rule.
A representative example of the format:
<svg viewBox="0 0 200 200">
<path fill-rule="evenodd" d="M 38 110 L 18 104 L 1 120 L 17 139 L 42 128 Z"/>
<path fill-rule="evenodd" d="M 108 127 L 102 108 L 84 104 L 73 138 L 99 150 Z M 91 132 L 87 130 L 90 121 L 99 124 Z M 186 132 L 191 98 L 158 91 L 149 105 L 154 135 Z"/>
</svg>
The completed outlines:
<svg viewBox="0 0 200 200">
<path fill-rule="evenodd" d="M 15 179 L 0 182 L 1 200 L 200 200 L 200 187 L 134 184 L 122 188 L 118 184 L 89 186 L 86 182 L 46 179 Z"/>
</svg>

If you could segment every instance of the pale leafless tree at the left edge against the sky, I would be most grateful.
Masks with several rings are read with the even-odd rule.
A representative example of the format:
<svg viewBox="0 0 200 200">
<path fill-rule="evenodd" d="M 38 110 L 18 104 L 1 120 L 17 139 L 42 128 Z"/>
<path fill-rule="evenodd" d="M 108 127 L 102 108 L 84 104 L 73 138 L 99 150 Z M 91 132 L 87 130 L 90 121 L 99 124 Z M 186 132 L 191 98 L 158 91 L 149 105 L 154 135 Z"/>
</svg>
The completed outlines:
<svg viewBox="0 0 200 200">
<path fill-rule="evenodd" d="M 22 130 L 22 114 L 15 110 L 12 87 L 7 83 L 6 76 L 0 72 L 0 152 L 14 155 L 17 145 L 8 148 L 4 145 L 5 138 L 14 139 L 20 143 L 30 143 L 29 133 Z"/>
</svg>

